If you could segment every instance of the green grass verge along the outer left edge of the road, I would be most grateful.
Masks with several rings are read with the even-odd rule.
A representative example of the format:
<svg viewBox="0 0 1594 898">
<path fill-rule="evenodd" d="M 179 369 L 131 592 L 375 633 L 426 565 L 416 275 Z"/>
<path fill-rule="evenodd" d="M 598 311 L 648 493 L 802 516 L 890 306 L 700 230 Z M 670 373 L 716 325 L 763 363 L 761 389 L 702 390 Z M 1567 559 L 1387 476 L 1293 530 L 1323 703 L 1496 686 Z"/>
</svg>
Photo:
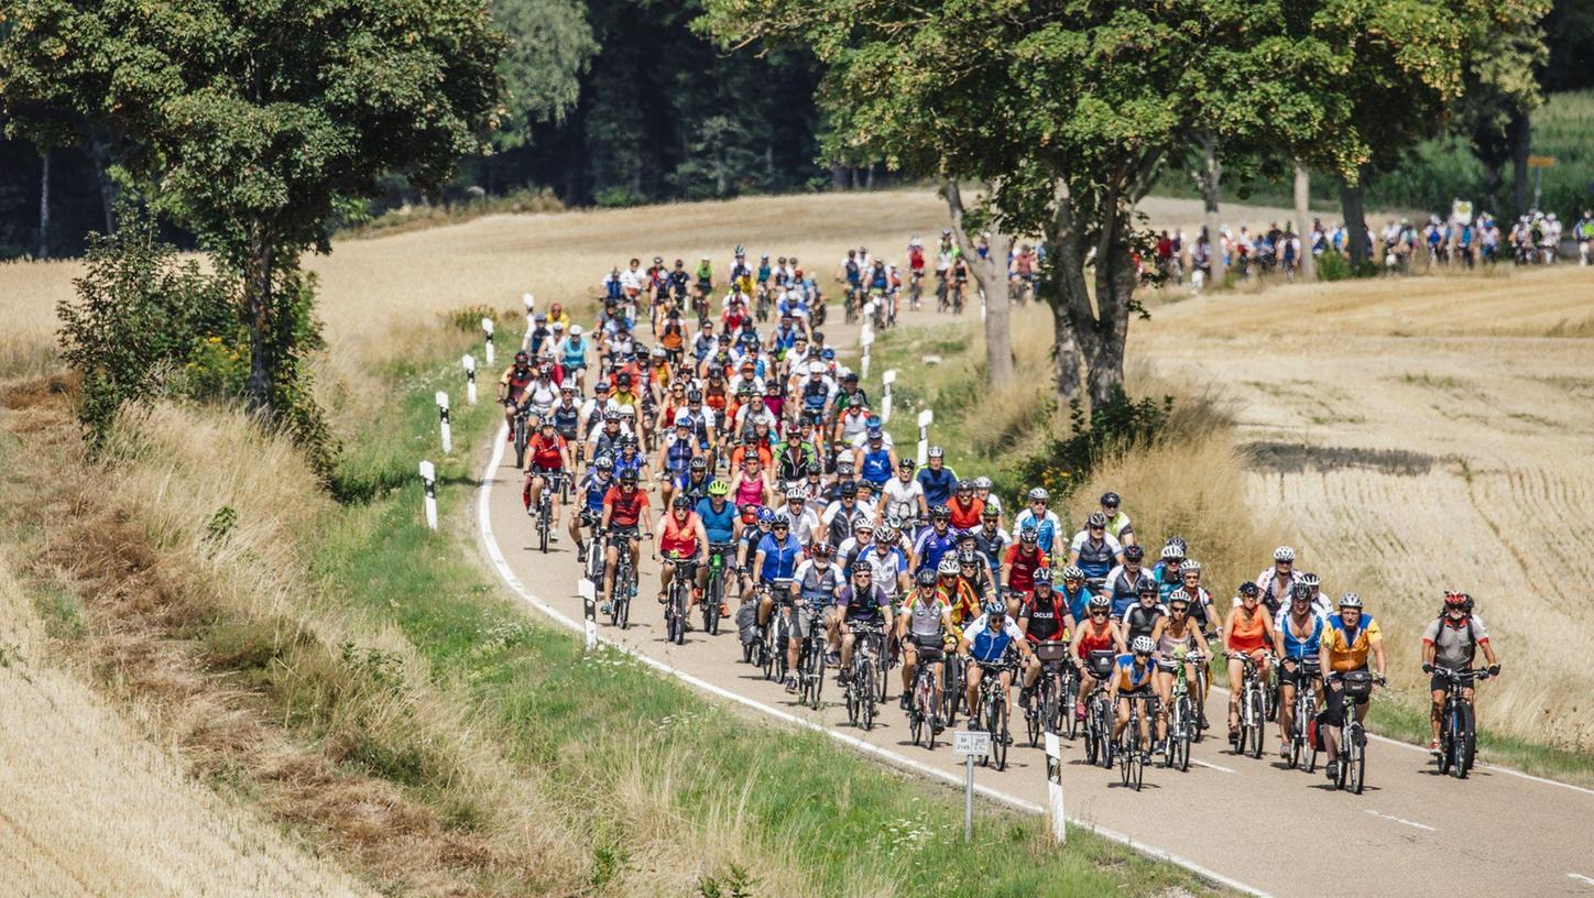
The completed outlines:
<svg viewBox="0 0 1594 898">
<path fill-rule="evenodd" d="M 644 764 L 666 780 L 687 826 L 709 826 L 713 815 L 738 807 L 741 831 L 795 858 L 826 895 L 856 892 L 861 876 L 905 895 L 1208 892 L 1186 871 L 1086 830 L 1074 828 L 1066 850 L 1057 850 L 1039 817 L 990 806 L 979 810 L 982 849 L 964 850 L 961 798 L 952 790 L 874 764 L 824 736 L 749 721 L 618 653 L 583 656 L 574 634 L 532 618 L 505 594 L 465 532 L 475 462 L 457 447 L 480 444 L 496 425 L 494 406 L 465 406 L 454 419 L 456 454 L 432 455 L 440 513 L 457 525 L 430 533 L 421 519 L 413 465 L 435 444 L 432 392 L 454 377 L 443 361 L 408 371 L 397 408 L 347 443 L 344 474 L 384 487 L 309 535 L 316 573 L 349 611 L 397 624 L 561 806 L 598 814 L 595 879 L 630 860 L 625 822 L 604 817 L 604 799 Z M 735 893 L 741 877 L 751 893 L 781 892 L 762 876 L 732 871 L 705 879 L 700 890 Z"/>
</svg>

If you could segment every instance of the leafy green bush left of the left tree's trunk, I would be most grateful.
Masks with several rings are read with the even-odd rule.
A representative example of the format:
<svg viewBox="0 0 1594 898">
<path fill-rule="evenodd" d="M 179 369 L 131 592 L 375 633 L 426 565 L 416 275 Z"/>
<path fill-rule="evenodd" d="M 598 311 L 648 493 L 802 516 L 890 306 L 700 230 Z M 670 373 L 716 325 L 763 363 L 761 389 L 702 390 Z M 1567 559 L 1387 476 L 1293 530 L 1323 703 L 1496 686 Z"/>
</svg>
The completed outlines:
<svg viewBox="0 0 1594 898">
<path fill-rule="evenodd" d="M 92 237 L 77 299 L 59 306 L 61 347 L 81 376 L 78 420 L 97 449 L 123 403 L 153 395 L 163 377 L 209 385 L 226 381 L 223 346 L 236 341 L 236 280 L 179 261 L 155 223 L 131 204 L 121 228 Z M 222 357 L 218 358 L 218 352 Z"/>
</svg>

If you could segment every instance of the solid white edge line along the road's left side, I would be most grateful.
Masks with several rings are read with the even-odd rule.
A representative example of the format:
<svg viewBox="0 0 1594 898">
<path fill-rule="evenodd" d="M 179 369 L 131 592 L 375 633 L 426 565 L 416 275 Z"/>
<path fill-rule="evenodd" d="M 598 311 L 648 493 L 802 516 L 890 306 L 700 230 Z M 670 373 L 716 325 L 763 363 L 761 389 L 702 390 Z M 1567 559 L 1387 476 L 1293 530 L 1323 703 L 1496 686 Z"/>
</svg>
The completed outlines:
<svg viewBox="0 0 1594 898">
<path fill-rule="evenodd" d="M 515 572 L 512 572 L 508 568 L 508 562 L 504 559 L 504 552 L 499 549 L 497 538 L 493 535 L 493 521 L 491 521 L 491 513 L 489 513 L 489 498 L 493 495 L 493 476 L 494 476 L 494 473 L 497 471 L 499 465 L 504 460 L 504 444 L 505 444 L 504 435 L 505 435 L 505 430 L 507 430 L 507 425 L 499 425 L 497 435 L 493 439 L 493 457 L 488 459 L 486 468 L 481 471 L 481 486 L 477 489 L 477 530 L 481 533 L 481 548 L 486 551 L 488 560 L 493 562 L 493 567 L 497 570 L 499 576 L 504 580 L 505 584 L 508 584 L 510 589 L 515 591 L 516 595 L 520 595 L 523 600 L 526 600 L 526 603 L 529 603 L 531 607 L 537 608 L 539 611 L 542 611 L 548 618 L 553 618 L 556 623 L 564 624 L 566 627 L 569 627 L 569 629 L 572 629 L 575 632 L 582 632 L 583 627 L 582 627 L 580 621 L 575 621 L 569 615 L 559 611 L 553 605 L 548 605 L 547 602 L 544 602 L 542 599 L 539 599 L 534 592 L 531 592 L 529 589 L 526 589 L 526 586 L 520 581 L 520 578 L 515 576 Z M 823 732 L 823 734 L 835 739 L 837 742 L 840 742 L 843 745 L 848 745 L 851 748 L 856 748 L 858 752 L 862 752 L 866 755 L 872 755 L 875 758 L 880 758 L 880 759 L 888 761 L 891 764 L 896 764 L 899 767 L 907 767 L 907 769 L 915 771 L 918 774 L 925 774 L 928 777 L 939 779 L 939 780 L 948 782 L 952 785 L 963 785 L 963 777 L 960 774 L 953 774 L 950 771 L 942 771 L 940 767 L 932 767 L 932 766 L 925 764 L 921 761 L 915 761 L 915 759 L 907 758 L 904 755 L 897 755 L 896 752 L 891 752 L 888 748 L 880 748 L 878 745 L 870 745 L 869 742 L 864 742 L 862 739 L 858 739 L 856 736 L 848 736 L 845 732 L 838 732 L 835 729 L 830 729 L 829 726 L 821 726 L 818 723 L 813 723 L 810 720 L 800 718 L 800 716 L 797 716 L 794 713 L 784 712 L 784 710 L 776 709 L 773 705 L 767 705 L 767 704 L 759 702 L 756 699 L 749 699 L 748 696 L 743 696 L 740 693 L 733 693 L 730 689 L 725 689 L 724 686 L 716 686 L 714 683 L 709 683 L 708 680 L 701 680 L 701 678 L 693 677 L 693 675 L 690 675 L 690 674 L 687 674 L 684 670 L 677 670 L 676 667 L 671 667 L 669 664 L 665 664 L 663 661 L 658 661 L 658 659 L 654 659 L 654 658 L 650 658 L 647 654 L 634 651 L 634 650 L 631 650 L 626 645 L 620 645 L 618 642 L 609 638 L 603 632 L 598 634 L 598 638 L 601 642 L 604 642 L 604 643 L 617 648 L 618 651 L 622 651 L 622 653 L 625 653 L 625 654 L 628 654 L 628 656 L 641 661 L 642 664 L 647 664 L 649 667 L 652 667 L 652 669 L 655 669 L 655 670 L 658 670 L 662 674 L 666 674 L 669 677 L 674 677 L 674 678 L 677 678 L 677 680 L 681 680 L 684 683 L 690 683 L 692 686 L 697 686 L 698 689 L 703 689 L 705 693 L 709 693 L 709 694 L 719 696 L 722 699 L 728 699 L 732 702 L 736 702 L 740 705 L 749 707 L 752 710 L 762 712 L 762 713 L 765 713 L 768 716 L 773 716 L 775 720 L 779 720 L 779 721 L 784 721 L 784 723 L 791 723 L 791 724 L 795 724 L 795 726 L 800 726 L 800 728 L 805 728 L 805 729 L 813 729 L 816 732 Z M 1022 798 L 1007 795 L 1004 791 L 999 791 L 999 790 L 995 790 L 995 788 L 990 788 L 990 787 L 985 787 L 985 785 L 977 785 L 976 783 L 974 791 L 980 793 L 982 796 L 985 796 L 985 798 L 988 798 L 991 801 L 998 801 L 998 802 L 1006 804 L 1009 807 L 1014 807 L 1017 810 L 1023 810 L 1023 812 L 1028 812 L 1028 814 L 1046 814 L 1046 809 L 1041 807 L 1039 804 L 1035 804 L 1031 801 L 1025 801 Z M 1154 845 L 1148 845 L 1144 842 L 1138 842 L 1138 841 L 1132 839 L 1130 836 L 1125 836 L 1124 833 L 1117 833 L 1114 830 L 1108 830 L 1105 826 L 1098 826 L 1097 823 L 1090 823 L 1087 820 L 1079 820 L 1076 817 L 1070 817 L 1070 823 L 1074 823 L 1076 826 L 1082 826 L 1086 830 L 1090 830 L 1090 831 L 1097 833 L 1098 836 L 1101 836 L 1105 839 L 1111 839 L 1114 842 L 1127 845 L 1127 847 L 1130 847 L 1130 849 L 1133 849 L 1133 850 L 1137 850 L 1137 852 L 1140 852 L 1140 853 L 1143 853 L 1146 857 L 1178 865 L 1178 866 L 1181 866 L 1181 868 L 1194 873 L 1196 876 L 1199 876 L 1199 877 L 1202 877 L 1202 879 L 1205 879 L 1208 882 L 1213 882 L 1216 885 L 1223 885 L 1223 887 L 1232 888 L 1235 892 L 1243 892 L 1247 895 L 1254 895 L 1256 898 L 1272 898 L 1267 892 L 1262 892 L 1261 888 L 1247 885 L 1247 884 L 1243 884 L 1243 882 L 1240 882 L 1237 879 L 1231 879 L 1231 877 L 1227 877 L 1227 876 L 1224 876 L 1224 874 L 1221 874 L 1221 873 L 1218 873 L 1215 869 L 1208 869 L 1205 866 L 1200 866 L 1199 863 L 1196 863 L 1196 861 L 1192 861 L 1189 858 L 1180 857 L 1180 855 L 1176 855 L 1173 852 L 1167 852 L 1167 850 L 1157 849 Z"/>
</svg>

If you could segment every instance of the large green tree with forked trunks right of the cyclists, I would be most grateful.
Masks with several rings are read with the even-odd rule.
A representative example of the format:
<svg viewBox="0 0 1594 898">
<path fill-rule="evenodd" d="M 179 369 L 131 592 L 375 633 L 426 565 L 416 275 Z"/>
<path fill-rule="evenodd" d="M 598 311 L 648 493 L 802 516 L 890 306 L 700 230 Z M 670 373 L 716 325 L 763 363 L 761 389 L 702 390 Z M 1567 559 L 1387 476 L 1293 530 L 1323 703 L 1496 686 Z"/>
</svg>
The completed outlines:
<svg viewBox="0 0 1594 898">
<path fill-rule="evenodd" d="M 829 65 L 834 156 L 991 183 L 1001 229 L 1047 239 L 1057 392 L 1079 387 L 1078 347 L 1100 404 L 1122 390 L 1143 312 L 1135 207 L 1170 153 L 1202 131 L 1235 153 L 1305 143 L 1349 111 L 1344 51 L 1285 27 L 1326 5 L 709 0 L 706 25 L 732 46 L 802 43 Z M 1345 170 L 1352 137 L 1334 146 Z"/>
</svg>

